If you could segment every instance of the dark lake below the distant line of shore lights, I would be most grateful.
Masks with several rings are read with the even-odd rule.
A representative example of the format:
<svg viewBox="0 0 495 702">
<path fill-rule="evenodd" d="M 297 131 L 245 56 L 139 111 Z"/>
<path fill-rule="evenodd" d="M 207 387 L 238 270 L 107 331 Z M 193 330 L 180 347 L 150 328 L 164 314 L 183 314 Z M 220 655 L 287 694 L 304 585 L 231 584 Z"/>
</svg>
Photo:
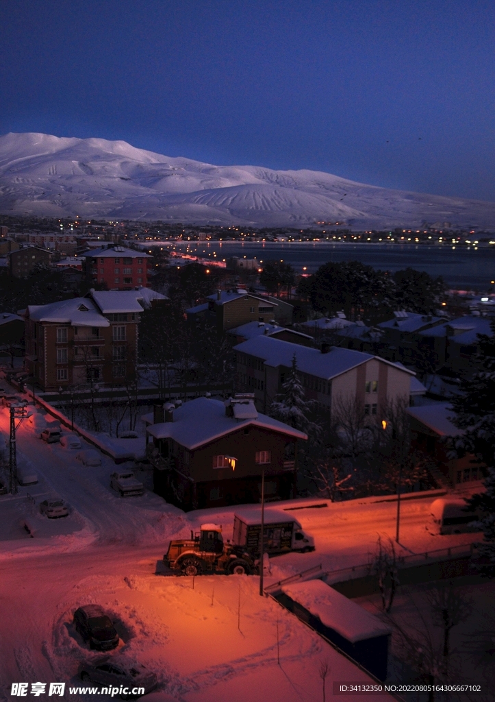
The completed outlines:
<svg viewBox="0 0 495 702">
<path fill-rule="evenodd" d="M 314 273 L 327 261 L 358 260 L 391 272 L 410 266 L 433 277 L 441 275 L 449 286 L 459 289 L 484 291 L 495 279 L 495 246 L 475 249 L 473 246 L 334 244 L 330 241 L 163 241 L 161 245 L 210 260 L 224 260 L 231 256 L 260 261 L 284 260 L 298 273 Z"/>
</svg>

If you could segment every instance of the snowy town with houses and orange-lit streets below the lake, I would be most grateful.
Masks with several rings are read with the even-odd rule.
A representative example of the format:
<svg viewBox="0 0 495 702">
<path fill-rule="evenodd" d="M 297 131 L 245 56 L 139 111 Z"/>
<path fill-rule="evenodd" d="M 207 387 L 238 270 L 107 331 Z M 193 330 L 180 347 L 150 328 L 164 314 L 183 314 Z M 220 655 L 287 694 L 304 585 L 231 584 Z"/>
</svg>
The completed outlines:
<svg viewBox="0 0 495 702">
<path fill-rule="evenodd" d="M 489 700 L 489 286 L 2 234 L 6 696 Z"/>
</svg>

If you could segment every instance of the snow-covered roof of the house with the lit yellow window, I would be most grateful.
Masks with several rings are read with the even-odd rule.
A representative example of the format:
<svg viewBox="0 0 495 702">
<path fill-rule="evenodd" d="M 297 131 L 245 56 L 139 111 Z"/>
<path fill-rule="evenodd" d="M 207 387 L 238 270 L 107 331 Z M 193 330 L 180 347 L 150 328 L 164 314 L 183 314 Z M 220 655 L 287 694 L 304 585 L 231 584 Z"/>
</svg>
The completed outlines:
<svg viewBox="0 0 495 702">
<path fill-rule="evenodd" d="M 148 420 L 148 417 L 146 419 Z M 303 432 L 264 414 L 248 419 L 227 417 L 224 403 L 207 397 L 184 402 L 174 410 L 172 422 L 152 424 L 147 431 L 156 439 L 174 439 L 181 446 L 193 451 L 249 425 L 287 434 L 296 439 L 308 438 Z"/>
</svg>

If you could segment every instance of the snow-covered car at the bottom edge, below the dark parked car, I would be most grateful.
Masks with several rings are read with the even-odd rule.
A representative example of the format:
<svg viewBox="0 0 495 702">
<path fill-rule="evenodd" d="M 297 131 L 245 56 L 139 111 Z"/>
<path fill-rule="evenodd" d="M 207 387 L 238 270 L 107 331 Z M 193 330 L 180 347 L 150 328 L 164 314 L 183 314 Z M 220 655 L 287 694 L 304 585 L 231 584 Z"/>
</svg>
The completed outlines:
<svg viewBox="0 0 495 702">
<path fill-rule="evenodd" d="M 144 668 L 144 665 L 124 659 L 105 656 L 96 661 L 84 661 L 79 665 L 81 680 L 95 682 L 104 687 L 123 687 L 122 699 L 139 696 L 138 688 L 144 689 L 144 694 L 156 687 L 156 675 Z"/>
</svg>

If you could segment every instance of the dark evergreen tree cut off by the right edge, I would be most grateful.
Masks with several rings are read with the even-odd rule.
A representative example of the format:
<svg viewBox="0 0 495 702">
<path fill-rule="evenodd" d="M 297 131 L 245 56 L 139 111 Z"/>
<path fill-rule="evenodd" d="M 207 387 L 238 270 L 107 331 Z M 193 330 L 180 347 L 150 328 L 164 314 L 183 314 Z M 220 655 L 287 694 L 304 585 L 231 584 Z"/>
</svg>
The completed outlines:
<svg viewBox="0 0 495 702">
<path fill-rule="evenodd" d="M 495 322 L 491 331 L 491 336 L 479 335 L 477 370 L 462 381 L 461 395 L 452 399 L 456 412 L 452 420 L 463 430 L 463 435 L 456 437 L 456 451 L 472 453 L 475 462 L 487 470 L 487 490 L 473 495 L 468 508 L 482 510 L 484 540 L 480 548 L 488 562 L 480 566 L 480 571 L 490 578 L 495 576 Z"/>
</svg>

